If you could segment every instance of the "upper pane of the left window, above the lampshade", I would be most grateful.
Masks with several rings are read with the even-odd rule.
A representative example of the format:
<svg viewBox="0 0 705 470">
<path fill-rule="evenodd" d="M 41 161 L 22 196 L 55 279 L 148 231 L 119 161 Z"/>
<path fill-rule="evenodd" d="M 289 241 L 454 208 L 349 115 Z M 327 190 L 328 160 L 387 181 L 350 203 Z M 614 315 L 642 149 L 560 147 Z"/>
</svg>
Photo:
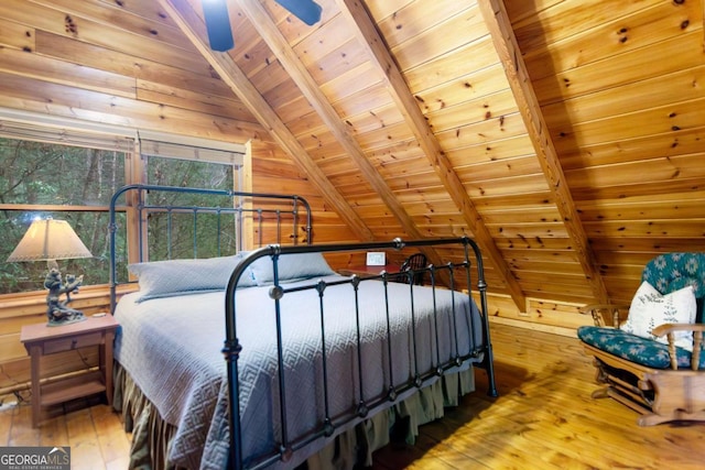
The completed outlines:
<svg viewBox="0 0 705 470">
<path fill-rule="evenodd" d="M 3 204 L 107 206 L 122 185 L 122 152 L 0 139 Z"/>
</svg>

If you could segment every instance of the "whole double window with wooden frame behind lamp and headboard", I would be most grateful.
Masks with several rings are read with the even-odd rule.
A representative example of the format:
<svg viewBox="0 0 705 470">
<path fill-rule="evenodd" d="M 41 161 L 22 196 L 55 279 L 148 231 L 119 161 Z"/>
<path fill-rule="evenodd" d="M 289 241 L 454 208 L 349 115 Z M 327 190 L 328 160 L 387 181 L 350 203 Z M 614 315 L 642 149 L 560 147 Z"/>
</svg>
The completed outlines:
<svg viewBox="0 0 705 470">
<path fill-rule="evenodd" d="M 137 134 L 126 135 L 123 130 L 115 134 L 87 132 L 3 121 L 1 118 L 2 110 L 0 233 L 6 243 L 0 245 L 0 294 L 44 289 L 46 263 L 6 262 L 37 217 L 67 220 L 94 256 L 61 260 L 62 272 L 84 274 L 84 285 L 106 284 L 109 281 L 110 255 L 108 207 L 116 189 L 131 183 L 215 189 L 240 187 L 241 154 L 218 149 L 227 146 L 223 143 L 209 149 L 200 146 L 204 144 L 200 141 L 198 145 L 183 142 L 183 138 L 182 142 L 174 143 L 167 141 L 169 136 L 161 136 L 161 141 L 138 139 Z M 141 149 L 142 159 L 132 159 L 135 149 Z M 140 175 L 135 177 L 138 181 L 129 181 L 128 175 L 131 174 Z M 196 203 L 183 201 L 188 205 Z M 231 205 L 232 201 L 228 198 L 224 204 Z M 117 217 L 118 226 L 124 227 L 126 215 Z M 184 238 L 178 244 L 186 250 L 191 247 L 186 239 L 191 237 L 193 223 L 185 217 L 175 223 L 184 227 L 183 230 L 180 227 L 176 233 Z M 199 229 L 200 236 L 213 231 L 209 226 L 215 227 L 216 222 L 199 223 L 204 225 L 204 231 Z M 117 238 L 117 249 L 124 258 L 129 251 L 126 240 L 127 237 Z M 160 247 L 159 237 L 150 238 L 150 243 L 156 252 L 165 250 Z M 235 240 L 225 240 L 224 245 L 214 248 L 213 253 L 200 253 L 199 256 L 216 255 L 220 250 L 229 254 L 235 252 Z"/>
</svg>

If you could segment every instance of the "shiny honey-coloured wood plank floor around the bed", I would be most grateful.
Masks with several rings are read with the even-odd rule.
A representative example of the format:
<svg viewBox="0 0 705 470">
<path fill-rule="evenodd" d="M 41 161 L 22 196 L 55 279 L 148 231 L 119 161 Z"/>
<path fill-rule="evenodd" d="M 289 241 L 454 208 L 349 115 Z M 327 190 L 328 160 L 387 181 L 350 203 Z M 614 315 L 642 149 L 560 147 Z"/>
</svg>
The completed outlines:
<svg viewBox="0 0 705 470">
<path fill-rule="evenodd" d="M 373 469 L 705 468 L 705 423 L 642 428 L 637 414 L 593 400 L 593 368 L 572 338 L 492 325 L 500 396 L 478 391 L 421 428 L 415 446 L 392 444 Z M 70 446 L 72 468 L 127 469 L 130 437 L 106 405 L 76 402 L 32 429 L 29 404 L 0 408 L 0 446 Z"/>
</svg>

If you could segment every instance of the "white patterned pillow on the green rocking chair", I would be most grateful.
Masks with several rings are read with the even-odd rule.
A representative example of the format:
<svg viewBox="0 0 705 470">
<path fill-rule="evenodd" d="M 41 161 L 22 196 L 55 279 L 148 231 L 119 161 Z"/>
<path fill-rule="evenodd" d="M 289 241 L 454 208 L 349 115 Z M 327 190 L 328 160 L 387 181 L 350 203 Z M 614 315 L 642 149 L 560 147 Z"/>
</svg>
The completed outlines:
<svg viewBox="0 0 705 470">
<path fill-rule="evenodd" d="M 651 330 L 663 324 L 692 324 L 695 321 L 695 310 L 693 286 L 663 295 L 644 281 L 631 300 L 629 317 L 621 329 L 668 345 L 666 337 L 657 338 L 651 335 Z M 676 331 L 674 335 L 675 346 L 693 351 L 692 331 Z"/>
</svg>

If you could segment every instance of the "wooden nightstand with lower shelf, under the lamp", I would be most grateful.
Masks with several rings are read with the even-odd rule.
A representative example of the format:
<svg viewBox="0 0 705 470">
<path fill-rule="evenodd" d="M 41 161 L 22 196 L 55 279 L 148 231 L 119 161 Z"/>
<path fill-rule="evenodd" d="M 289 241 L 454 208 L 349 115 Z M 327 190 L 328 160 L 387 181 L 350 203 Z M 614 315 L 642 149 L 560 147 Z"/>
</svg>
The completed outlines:
<svg viewBox="0 0 705 470">
<path fill-rule="evenodd" d="M 106 393 L 108 405 L 112 404 L 112 341 L 117 328 L 118 323 L 112 315 L 89 316 L 84 321 L 57 327 L 46 324 L 22 327 L 20 341 L 32 361 L 32 427 L 40 424 L 42 406 L 101 392 Z M 40 384 L 42 356 L 88 346 L 98 346 L 100 359 L 97 371 Z"/>
</svg>

